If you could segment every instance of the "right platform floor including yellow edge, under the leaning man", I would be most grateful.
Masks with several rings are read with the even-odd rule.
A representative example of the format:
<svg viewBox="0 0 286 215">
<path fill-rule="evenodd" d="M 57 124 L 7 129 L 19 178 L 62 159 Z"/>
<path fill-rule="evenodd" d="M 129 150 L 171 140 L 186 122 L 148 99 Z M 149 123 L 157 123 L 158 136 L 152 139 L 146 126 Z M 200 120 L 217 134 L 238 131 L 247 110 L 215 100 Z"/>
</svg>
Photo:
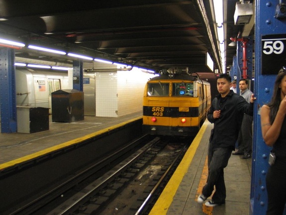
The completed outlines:
<svg viewBox="0 0 286 215">
<path fill-rule="evenodd" d="M 249 215 L 252 159 L 231 155 L 224 169 L 226 203 L 214 208 L 196 199 L 207 179 L 207 147 L 213 124 L 207 120 L 191 143 L 149 215 Z"/>
</svg>

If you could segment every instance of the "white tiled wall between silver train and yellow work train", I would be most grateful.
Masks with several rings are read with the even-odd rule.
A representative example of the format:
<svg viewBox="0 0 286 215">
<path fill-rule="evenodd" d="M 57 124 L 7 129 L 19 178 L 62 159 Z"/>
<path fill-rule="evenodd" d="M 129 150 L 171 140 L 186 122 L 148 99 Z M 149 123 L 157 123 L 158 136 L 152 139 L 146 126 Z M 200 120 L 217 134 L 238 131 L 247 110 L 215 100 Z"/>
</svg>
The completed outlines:
<svg viewBox="0 0 286 215">
<path fill-rule="evenodd" d="M 94 63 L 95 69 L 115 69 L 120 66 Z M 117 117 L 142 110 L 146 82 L 154 77 L 133 68 L 131 71 L 96 72 L 96 116 Z"/>
</svg>

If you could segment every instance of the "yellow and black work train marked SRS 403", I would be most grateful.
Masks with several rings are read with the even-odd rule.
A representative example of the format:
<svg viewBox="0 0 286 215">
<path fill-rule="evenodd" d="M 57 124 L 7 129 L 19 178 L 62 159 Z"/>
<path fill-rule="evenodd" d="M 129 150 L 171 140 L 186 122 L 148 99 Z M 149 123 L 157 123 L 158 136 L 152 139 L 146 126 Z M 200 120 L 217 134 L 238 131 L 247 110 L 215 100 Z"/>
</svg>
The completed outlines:
<svg viewBox="0 0 286 215">
<path fill-rule="evenodd" d="M 146 84 L 143 132 L 193 136 L 210 108 L 210 84 L 188 74 L 160 75 Z"/>
</svg>

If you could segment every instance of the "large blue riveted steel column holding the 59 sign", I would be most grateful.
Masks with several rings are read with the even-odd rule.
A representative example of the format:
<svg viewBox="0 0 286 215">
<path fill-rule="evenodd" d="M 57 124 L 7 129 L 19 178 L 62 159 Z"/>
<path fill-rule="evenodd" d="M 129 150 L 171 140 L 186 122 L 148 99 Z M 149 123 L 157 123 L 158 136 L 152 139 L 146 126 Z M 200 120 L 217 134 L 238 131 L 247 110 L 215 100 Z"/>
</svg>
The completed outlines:
<svg viewBox="0 0 286 215">
<path fill-rule="evenodd" d="M 276 19 L 276 6 L 279 0 L 256 0 L 255 12 L 255 88 L 257 98 L 254 111 L 253 158 L 251 177 L 251 214 L 264 215 L 267 209 L 266 173 L 269 168 L 268 157 L 270 147 L 262 138 L 259 107 L 268 103 L 273 94 L 276 74 L 262 74 L 262 38 L 264 35 L 286 33 L 286 19 Z M 277 47 L 276 47 L 277 48 Z M 284 47 L 286 48 L 286 47 Z M 267 49 L 269 51 L 270 49 Z M 285 53 L 285 52 L 284 52 Z M 274 62 L 266 62 L 275 65 Z M 284 212 L 284 215 L 286 213 Z"/>
</svg>

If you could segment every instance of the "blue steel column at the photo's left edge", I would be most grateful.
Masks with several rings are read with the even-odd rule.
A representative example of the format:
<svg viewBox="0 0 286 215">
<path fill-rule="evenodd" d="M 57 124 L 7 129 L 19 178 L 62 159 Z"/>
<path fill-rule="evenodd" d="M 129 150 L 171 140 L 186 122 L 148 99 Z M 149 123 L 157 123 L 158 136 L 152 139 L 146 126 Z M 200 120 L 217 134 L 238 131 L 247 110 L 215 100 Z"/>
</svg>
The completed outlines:
<svg viewBox="0 0 286 215">
<path fill-rule="evenodd" d="M 1 133 L 17 131 L 14 62 L 14 49 L 0 48 Z"/>
</svg>

